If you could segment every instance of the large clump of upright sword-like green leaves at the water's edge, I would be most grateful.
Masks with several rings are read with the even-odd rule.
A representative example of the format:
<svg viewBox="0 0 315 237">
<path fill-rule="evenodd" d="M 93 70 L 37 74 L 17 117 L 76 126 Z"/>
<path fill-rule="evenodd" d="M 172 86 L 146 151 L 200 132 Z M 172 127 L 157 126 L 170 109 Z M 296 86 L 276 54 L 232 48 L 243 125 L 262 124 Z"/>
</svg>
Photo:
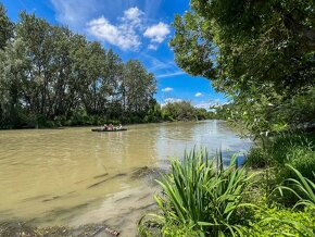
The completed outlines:
<svg viewBox="0 0 315 237">
<path fill-rule="evenodd" d="M 211 236 L 240 234 L 239 214 L 250 205 L 243 197 L 251 178 L 236 166 L 235 158 L 224 169 L 222 158 L 215 162 L 205 152 L 192 151 L 182 162 L 172 160 L 171 175 L 159 182 L 165 197 L 155 200 L 166 223 L 188 224 Z"/>
</svg>

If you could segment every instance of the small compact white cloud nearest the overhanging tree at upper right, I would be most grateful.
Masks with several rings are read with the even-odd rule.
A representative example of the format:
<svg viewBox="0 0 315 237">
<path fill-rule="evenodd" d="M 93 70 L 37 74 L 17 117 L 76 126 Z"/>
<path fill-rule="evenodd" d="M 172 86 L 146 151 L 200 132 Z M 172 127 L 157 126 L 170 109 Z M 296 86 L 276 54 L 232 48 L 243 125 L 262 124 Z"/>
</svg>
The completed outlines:
<svg viewBox="0 0 315 237">
<path fill-rule="evenodd" d="M 161 43 L 171 33 L 169 26 L 163 22 L 148 27 L 143 34 L 144 37 L 151 39 L 151 42 Z"/>
</svg>

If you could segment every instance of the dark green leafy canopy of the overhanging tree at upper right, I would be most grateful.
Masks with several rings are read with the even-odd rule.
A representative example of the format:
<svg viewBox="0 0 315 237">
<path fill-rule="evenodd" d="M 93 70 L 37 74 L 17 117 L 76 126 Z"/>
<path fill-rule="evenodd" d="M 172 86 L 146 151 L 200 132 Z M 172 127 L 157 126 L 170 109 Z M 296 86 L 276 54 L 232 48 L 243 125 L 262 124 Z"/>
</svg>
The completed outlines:
<svg viewBox="0 0 315 237">
<path fill-rule="evenodd" d="M 314 82 L 314 2 L 191 0 L 190 7 L 175 17 L 171 41 L 187 72 L 225 91 L 272 86 L 298 92 Z"/>
</svg>

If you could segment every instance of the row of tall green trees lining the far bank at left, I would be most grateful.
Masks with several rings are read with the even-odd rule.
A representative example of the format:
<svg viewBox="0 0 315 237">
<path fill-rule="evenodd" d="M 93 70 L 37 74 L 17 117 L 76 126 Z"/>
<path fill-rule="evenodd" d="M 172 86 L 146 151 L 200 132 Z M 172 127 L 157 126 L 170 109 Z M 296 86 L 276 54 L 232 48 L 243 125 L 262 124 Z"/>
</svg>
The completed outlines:
<svg viewBox="0 0 315 237">
<path fill-rule="evenodd" d="M 0 127 L 135 123 L 153 111 L 156 80 L 141 62 L 34 14 L 14 24 L 1 4 L 0 25 Z"/>
</svg>

